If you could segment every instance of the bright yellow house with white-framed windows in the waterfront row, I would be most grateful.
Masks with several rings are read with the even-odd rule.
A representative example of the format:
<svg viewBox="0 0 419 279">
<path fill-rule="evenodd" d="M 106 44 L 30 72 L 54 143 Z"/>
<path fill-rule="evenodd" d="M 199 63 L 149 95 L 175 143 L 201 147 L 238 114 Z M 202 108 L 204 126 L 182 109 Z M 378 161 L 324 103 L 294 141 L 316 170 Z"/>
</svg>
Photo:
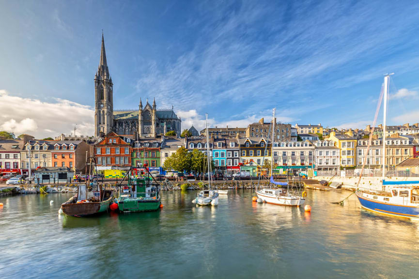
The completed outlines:
<svg viewBox="0 0 419 279">
<path fill-rule="evenodd" d="M 341 167 L 350 168 L 355 167 L 357 164 L 357 138 L 351 130 L 344 134 L 336 134 L 336 132 L 330 132 L 329 140 L 337 142 L 339 149 L 341 150 Z"/>
</svg>

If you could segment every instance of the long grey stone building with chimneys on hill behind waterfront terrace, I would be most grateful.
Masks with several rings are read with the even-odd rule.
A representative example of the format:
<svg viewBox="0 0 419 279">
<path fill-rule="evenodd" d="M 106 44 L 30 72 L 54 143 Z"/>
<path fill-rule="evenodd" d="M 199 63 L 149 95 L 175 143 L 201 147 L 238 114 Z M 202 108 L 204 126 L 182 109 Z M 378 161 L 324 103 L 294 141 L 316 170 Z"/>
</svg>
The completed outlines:
<svg viewBox="0 0 419 279">
<path fill-rule="evenodd" d="M 276 123 L 276 119 L 274 120 Z M 246 128 L 246 137 L 272 139 L 272 122 L 264 122 L 262 118 L 259 122 L 249 124 Z M 291 124 L 275 124 L 275 140 L 291 141 Z"/>
</svg>

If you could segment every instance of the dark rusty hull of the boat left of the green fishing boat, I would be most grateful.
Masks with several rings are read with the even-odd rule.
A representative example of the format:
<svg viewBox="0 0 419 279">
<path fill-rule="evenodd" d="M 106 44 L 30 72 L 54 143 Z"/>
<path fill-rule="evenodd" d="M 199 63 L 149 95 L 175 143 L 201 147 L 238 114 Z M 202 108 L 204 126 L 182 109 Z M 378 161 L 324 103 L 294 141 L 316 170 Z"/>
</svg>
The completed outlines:
<svg viewBox="0 0 419 279">
<path fill-rule="evenodd" d="M 61 205 L 62 212 L 68 216 L 86 217 L 107 212 L 112 203 L 113 196 L 111 195 L 108 200 L 102 202 L 77 203 L 73 202 L 73 199 L 77 199 L 77 197 L 74 196 L 68 202 L 64 202 Z"/>
</svg>

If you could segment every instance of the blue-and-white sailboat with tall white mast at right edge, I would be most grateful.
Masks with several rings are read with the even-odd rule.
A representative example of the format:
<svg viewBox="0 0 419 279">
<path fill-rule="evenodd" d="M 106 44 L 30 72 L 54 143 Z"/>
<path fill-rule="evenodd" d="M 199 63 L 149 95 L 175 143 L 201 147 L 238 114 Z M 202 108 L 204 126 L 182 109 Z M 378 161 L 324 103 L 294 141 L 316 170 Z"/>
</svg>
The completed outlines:
<svg viewBox="0 0 419 279">
<path fill-rule="evenodd" d="M 356 195 L 361 207 L 376 213 L 406 217 L 406 218 L 419 218 L 419 181 L 386 181 L 386 122 L 387 122 L 387 106 L 388 106 L 388 89 L 390 75 L 384 77 L 384 103 L 383 103 L 383 164 L 382 164 L 382 186 L 388 186 L 386 191 L 372 191 L 370 189 L 360 189 L 359 181 L 357 183 Z M 381 104 L 381 96 L 375 112 L 375 119 L 372 129 L 375 126 L 376 116 Z M 373 131 L 373 130 L 372 130 Z M 372 132 L 367 146 L 367 152 L 364 158 L 361 175 L 365 166 L 366 156 L 368 154 L 372 140 Z M 416 185 L 416 186 L 415 186 Z"/>
</svg>

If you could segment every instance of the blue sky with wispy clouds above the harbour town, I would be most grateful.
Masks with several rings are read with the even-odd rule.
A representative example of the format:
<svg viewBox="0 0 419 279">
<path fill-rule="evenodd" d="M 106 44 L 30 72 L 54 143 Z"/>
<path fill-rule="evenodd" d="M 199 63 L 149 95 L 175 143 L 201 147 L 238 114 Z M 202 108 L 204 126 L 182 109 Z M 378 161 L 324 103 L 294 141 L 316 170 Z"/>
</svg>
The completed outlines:
<svg viewBox="0 0 419 279">
<path fill-rule="evenodd" d="M 155 97 L 182 129 L 260 118 L 419 122 L 418 1 L 0 0 L 0 130 L 93 135 L 102 30 L 114 109 Z M 380 114 L 377 123 L 382 123 Z"/>
</svg>

